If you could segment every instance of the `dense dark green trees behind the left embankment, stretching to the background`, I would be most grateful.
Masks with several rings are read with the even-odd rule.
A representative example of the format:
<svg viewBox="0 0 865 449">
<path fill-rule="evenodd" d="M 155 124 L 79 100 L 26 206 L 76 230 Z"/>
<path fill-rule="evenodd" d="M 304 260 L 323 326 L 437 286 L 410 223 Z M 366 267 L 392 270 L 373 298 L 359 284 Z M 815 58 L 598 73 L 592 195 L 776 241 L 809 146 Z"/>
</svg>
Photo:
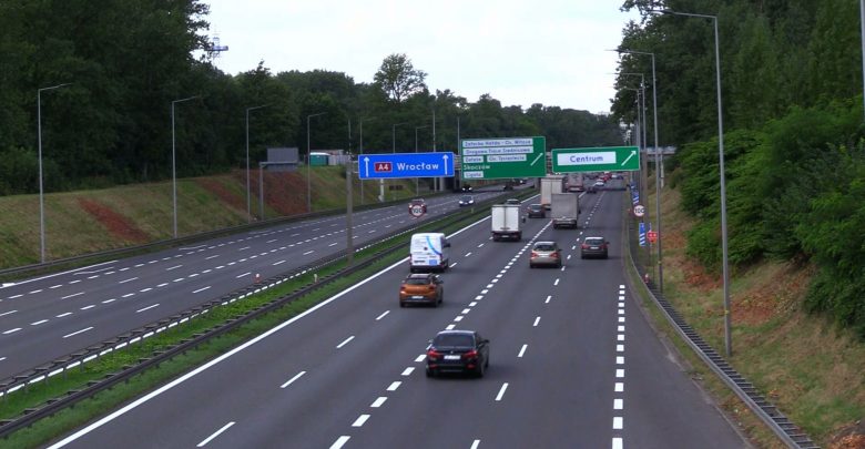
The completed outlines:
<svg viewBox="0 0 865 449">
<path fill-rule="evenodd" d="M 387 55 L 373 83 L 329 71 L 231 75 L 213 63 L 208 7 L 197 0 L 0 0 L 0 194 L 38 186 L 37 91 L 42 91 L 47 191 L 171 176 L 174 103 L 177 175 L 245 166 L 267 146 L 455 151 L 464 137 L 547 135 L 561 145 L 621 142 L 618 123 L 586 111 L 502 106 L 431 93 L 405 54 Z M 202 54 L 202 57 L 193 57 Z M 350 127 L 349 127 L 350 121 Z M 399 123 L 396 129 L 394 124 Z M 416 130 L 418 126 L 427 126 Z M 350 136 L 349 136 L 350 130 Z"/>
</svg>

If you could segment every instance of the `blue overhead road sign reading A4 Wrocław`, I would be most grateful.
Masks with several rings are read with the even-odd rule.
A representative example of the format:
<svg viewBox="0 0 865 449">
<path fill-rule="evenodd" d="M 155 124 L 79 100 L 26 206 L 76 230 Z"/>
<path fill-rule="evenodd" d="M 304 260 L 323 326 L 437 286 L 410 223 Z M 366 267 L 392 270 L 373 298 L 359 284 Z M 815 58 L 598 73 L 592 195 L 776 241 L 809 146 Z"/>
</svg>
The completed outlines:
<svg viewBox="0 0 865 449">
<path fill-rule="evenodd" d="M 360 154 L 357 171 L 362 180 L 452 177 L 454 153 Z"/>
</svg>

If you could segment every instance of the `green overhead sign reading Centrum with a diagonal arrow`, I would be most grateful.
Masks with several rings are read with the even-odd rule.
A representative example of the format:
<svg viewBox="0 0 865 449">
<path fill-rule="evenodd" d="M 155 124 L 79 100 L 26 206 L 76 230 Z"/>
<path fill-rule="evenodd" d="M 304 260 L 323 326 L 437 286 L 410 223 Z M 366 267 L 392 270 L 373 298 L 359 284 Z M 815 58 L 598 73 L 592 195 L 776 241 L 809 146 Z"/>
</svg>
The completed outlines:
<svg viewBox="0 0 865 449">
<path fill-rule="evenodd" d="M 640 149 L 637 146 L 552 150 L 552 171 L 554 173 L 639 170 Z"/>
</svg>

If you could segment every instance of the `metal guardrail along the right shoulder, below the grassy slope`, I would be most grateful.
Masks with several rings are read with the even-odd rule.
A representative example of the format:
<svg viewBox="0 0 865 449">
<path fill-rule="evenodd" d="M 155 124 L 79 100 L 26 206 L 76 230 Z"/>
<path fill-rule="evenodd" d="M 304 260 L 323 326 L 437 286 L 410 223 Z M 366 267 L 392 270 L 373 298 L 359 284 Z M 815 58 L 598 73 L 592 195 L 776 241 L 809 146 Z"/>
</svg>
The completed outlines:
<svg viewBox="0 0 865 449">
<path fill-rule="evenodd" d="M 633 221 L 624 218 L 628 223 L 628 251 L 631 266 L 640 274 L 641 279 L 645 279 L 647 271 L 642 265 L 637 264 L 634 246 L 639 248 L 637 233 L 634 232 Z M 749 382 L 744 376 L 739 374 L 732 366 L 712 348 L 703 338 L 682 318 L 676 309 L 664 298 L 651 280 L 641 283 L 649 296 L 661 309 L 663 316 L 675 329 L 676 334 L 691 347 L 703 363 L 715 373 L 715 375 L 726 386 L 747 405 L 747 407 L 769 427 L 777 437 L 790 448 L 820 449 L 814 441 L 795 424 L 793 424 L 784 414 L 770 402 L 753 384 Z"/>
</svg>

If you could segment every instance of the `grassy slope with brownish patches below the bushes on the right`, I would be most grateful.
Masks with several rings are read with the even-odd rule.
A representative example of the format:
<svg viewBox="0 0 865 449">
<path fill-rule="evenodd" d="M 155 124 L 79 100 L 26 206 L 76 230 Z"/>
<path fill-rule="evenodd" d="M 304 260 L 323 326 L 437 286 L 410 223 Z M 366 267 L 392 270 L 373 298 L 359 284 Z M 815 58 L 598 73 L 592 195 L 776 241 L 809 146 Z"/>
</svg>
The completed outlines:
<svg viewBox="0 0 865 449">
<path fill-rule="evenodd" d="M 645 204 L 652 206 L 647 210 L 654 215 L 654 188 L 649 192 Z M 664 296 L 724 354 L 721 274 L 706 273 L 686 257 L 685 235 L 693 218 L 681 212 L 679 201 L 675 190 L 666 187 L 661 194 Z M 865 438 L 849 446 L 837 437 L 839 430 L 865 418 L 865 345 L 826 318 L 803 310 L 811 273 L 808 266 L 780 262 L 731 273 L 733 356 L 729 361 L 821 446 L 863 448 Z M 664 327 L 660 314 L 653 315 Z M 760 447 L 781 447 L 690 348 L 681 341 L 676 346 L 693 366 L 693 375 L 705 380 Z"/>
</svg>

